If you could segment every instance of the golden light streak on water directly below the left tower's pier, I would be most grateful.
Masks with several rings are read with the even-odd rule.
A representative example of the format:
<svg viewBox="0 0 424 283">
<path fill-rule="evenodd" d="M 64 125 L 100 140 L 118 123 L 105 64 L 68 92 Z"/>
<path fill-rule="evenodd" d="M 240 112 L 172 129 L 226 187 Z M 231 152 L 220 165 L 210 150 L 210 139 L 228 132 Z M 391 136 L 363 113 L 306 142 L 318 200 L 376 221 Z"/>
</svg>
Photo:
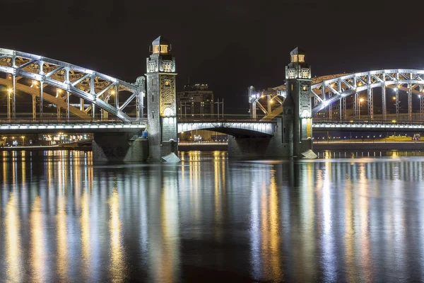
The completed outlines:
<svg viewBox="0 0 424 283">
<path fill-rule="evenodd" d="M 110 276 L 112 281 L 123 280 L 124 254 L 122 250 L 121 221 L 119 219 L 119 195 L 117 187 L 113 187 L 109 199 L 110 219 Z"/>
</svg>

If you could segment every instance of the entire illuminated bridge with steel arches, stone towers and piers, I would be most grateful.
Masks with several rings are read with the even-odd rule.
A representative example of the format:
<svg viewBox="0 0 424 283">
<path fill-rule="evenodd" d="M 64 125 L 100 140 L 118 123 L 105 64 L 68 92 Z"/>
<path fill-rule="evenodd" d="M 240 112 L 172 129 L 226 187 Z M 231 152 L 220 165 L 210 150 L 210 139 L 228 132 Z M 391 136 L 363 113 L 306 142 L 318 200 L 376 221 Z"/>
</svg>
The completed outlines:
<svg viewBox="0 0 424 283">
<path fill-rule="evenodd" d="M 177 153 L 177 133 L 194 129 L 232 136 L 230 155 L 300 156 L 312 149 L 312 129 L 420 132 L 424 127 L 424 70 L 312 78 L 305 52 L 296 48 L 285 85 L 264 91 L 249 87 L 249 118 L 183 120 L 175 103 L 175 58 L 163 37 L 152 42 L 146 69 L 146 76 L 128 83 L 56 59 L 0 49 L 0 97 L 6 98 L 0 134 L 90 132 L 95 134 L 93 156 L 100 161 L 158 161 Z M 19 112 L 20 101 L 25 103 Z M 139 139 L 143 131 L 148 139 Z"/>
</svg>

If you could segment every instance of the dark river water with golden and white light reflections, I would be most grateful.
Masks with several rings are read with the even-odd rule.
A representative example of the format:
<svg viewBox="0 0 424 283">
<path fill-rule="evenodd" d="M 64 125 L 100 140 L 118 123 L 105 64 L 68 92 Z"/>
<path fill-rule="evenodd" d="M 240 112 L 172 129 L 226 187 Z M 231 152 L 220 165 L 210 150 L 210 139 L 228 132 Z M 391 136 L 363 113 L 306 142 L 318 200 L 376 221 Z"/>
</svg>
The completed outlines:
<svg viewBox="0 0 424 283">
<path fill-rule="evenodd" d="M 0 156 L 0 282 L 424 280 L 424 157 Z"/>
</svg>

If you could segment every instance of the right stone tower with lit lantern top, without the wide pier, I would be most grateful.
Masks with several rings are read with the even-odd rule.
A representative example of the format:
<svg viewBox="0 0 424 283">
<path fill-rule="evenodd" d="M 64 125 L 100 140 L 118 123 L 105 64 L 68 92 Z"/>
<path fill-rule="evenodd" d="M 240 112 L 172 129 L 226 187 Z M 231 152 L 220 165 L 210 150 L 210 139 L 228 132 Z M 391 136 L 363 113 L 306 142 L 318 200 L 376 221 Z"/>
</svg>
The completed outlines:
<svg viewBox="0 0 424 283">
<path fill-rule="evenodd" d="M 305 51 L 296 47 L 285 67 L 286 98 L 283 103 L 283 146 L 290 156 L 316 158 L 312 151 L 311 68 Z"/>
</svg>

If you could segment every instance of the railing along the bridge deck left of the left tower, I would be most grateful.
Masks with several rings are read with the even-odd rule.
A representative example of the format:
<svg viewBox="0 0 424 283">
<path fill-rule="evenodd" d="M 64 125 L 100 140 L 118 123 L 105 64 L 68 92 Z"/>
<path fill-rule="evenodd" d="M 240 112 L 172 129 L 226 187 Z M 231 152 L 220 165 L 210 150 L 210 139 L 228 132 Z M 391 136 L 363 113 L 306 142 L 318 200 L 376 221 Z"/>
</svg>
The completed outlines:
<svg viewBox="0 0 424 283">
<path fill-rule="evenodd" d="M 131 124 L 131 125 L 140 125 L 146 124 L 147 119 L 131 119 L 129 122 L 122 122 L 120 119 L 81 119 L 81 118 L 43 118 L 33 120 L 32 118 L 16 118 L 16 119 L 3 119 L 0 118 L 0 125 L 31 125 L 31 124 Z"/>
</svg>

